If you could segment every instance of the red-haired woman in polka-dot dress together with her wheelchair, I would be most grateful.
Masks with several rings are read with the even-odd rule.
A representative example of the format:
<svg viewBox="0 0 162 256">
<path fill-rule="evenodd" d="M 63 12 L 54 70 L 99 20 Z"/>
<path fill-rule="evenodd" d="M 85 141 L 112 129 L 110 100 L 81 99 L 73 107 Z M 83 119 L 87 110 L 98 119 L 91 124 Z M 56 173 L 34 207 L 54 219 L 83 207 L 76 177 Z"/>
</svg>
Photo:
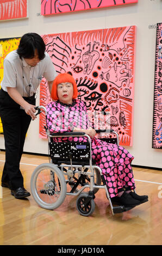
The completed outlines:
<svg viewBox="0 0 162 256">
<path fill-rule="evenodd" d="M 70 74 L 59 74 L 53 82 L 53 102 L 44 109 L 51 164 L 34 170 L 31 179 L 34 199 L 43 208 L 55 209 L 63 203 L 66 194 L 78 196 L 77 209 L 84 216 L 94 211 L 95 193 L 99 188 L 105 189 L 113 214 L 147 202 L 148 196 L 139 196 L 134 191 L 131 166 L 134 157 L 118 143 L 95 137 L 86 106 L 77 96 L 74 78 Z M 67 193 L 67 184 L 71 187 L 70 193 Z M 89 192 L 81 193 L 87 187 Z"/>
</svg>

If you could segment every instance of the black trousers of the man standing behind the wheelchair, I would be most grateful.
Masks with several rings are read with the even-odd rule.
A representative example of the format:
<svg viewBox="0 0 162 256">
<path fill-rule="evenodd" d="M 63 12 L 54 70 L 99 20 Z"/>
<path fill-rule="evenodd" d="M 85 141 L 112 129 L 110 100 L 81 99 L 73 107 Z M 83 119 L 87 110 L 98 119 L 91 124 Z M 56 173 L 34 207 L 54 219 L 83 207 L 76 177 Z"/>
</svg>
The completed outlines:
<svg viewBox="0 0 162 256">
<path fill-rule="evenodd" d="M 34 102 L 32 102 L 35 105 Z M 2 182 L 10 184 L 11 189 L 23 187 L 23 176 L 20 171 L 20 160 L 23 153 L 26 133 L 31 121 L 8 93 L 0 90 L 0 117 L 5 141 L 5 164 Z"/>
</svg>

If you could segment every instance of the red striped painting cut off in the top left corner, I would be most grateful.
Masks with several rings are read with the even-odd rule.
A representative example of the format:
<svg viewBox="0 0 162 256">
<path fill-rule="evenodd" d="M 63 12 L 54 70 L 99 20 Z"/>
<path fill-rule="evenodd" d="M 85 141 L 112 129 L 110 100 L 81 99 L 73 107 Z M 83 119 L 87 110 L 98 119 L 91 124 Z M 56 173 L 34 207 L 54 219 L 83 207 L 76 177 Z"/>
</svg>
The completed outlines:
<svg viewBox="0 0 162 256">
<path fill-rule="evenodd" d="M 27 0 L 1 0 L 0 20 L 22 19 L 27 17 Z"/>
</svg>

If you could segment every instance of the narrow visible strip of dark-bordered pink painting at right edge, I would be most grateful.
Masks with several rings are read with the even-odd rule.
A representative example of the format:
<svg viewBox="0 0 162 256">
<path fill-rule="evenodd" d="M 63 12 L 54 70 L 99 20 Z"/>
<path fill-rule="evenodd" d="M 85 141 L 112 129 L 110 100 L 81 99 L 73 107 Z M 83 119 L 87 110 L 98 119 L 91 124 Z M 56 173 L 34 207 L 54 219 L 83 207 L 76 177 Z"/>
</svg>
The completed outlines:
<svg viewBox="0 0 162 256">
<path fill-rule="evenodd" d="M 157 24 L 152 148 L 162 149 L 162 23 Z"/>
</svg>

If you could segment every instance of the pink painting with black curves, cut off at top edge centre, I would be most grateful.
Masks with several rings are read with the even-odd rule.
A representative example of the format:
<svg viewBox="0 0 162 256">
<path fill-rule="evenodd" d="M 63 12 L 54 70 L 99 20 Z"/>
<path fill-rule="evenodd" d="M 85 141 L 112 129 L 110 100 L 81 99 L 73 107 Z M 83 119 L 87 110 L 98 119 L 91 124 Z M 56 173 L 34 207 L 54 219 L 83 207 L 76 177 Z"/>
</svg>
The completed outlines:
<svg viewBox="0 0 162 256">
<path fill-rule="evenodd" d="M 138 0 L 41 0 L 41 14 L 69 13 L 137 2 Z"/>
</svg>

